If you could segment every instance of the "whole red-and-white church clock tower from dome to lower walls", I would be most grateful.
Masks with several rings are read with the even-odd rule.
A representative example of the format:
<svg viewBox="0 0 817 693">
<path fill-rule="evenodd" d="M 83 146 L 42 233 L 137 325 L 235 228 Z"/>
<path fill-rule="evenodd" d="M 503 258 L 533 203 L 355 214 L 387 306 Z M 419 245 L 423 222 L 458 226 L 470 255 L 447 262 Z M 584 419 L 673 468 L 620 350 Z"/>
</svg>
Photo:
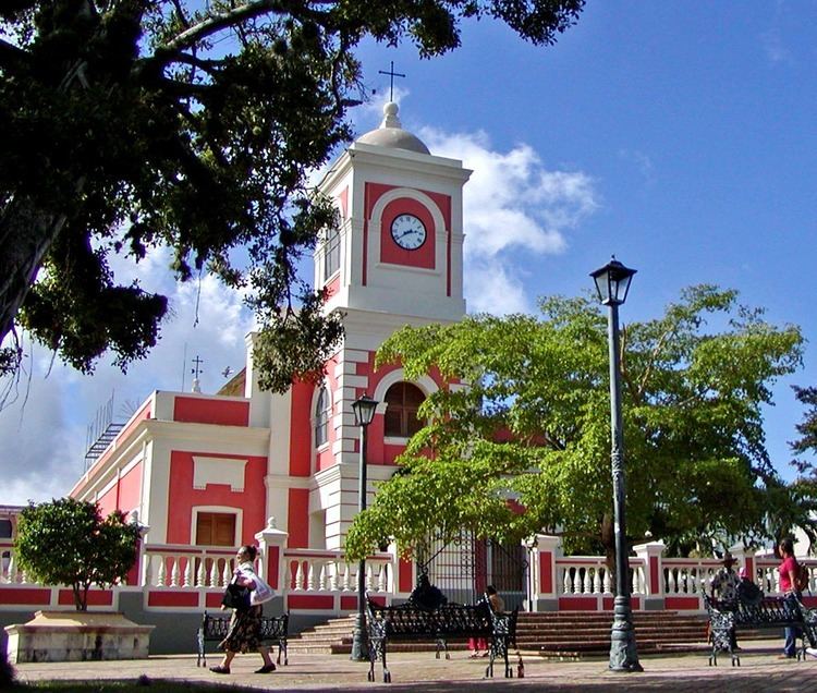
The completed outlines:
<svg viewBox="0 0 817 693">
<path fill-rule="evenodd" d="M 337 205 L 340 226 L 315 251 L 315 285 L 329 293 L 326 309 L 343 315 L 344 337 L 324 382 L 312 394 L 292 396 L 303 397 L 310 412 L 297 439 L 315 434 L 304 510 L 309 546 L 317 548 L 342 548 L 357 508 L 361 434 L 352 403 L 364 393 L 379 402 L 367 427 L 371 497 L 375 484 L 394 473 L 394 460 L 418 425 L 419 402 L 439 387 L 430 376 L 407 381 L 400 364 L 376 368 L 378 348 L 405 325 L 465 315 L 462 193 L 471 171 L 431 155 L 403 130 L 395 104 L 387 104 L 383 115 L 319 184 Z M 300 493 L 291 491 L 293 498 Z M 298 502 L 290 499 L 291 514 Z M 294 516 L 293 526 L 306 526 L 305 516 Z"/>
</svg>

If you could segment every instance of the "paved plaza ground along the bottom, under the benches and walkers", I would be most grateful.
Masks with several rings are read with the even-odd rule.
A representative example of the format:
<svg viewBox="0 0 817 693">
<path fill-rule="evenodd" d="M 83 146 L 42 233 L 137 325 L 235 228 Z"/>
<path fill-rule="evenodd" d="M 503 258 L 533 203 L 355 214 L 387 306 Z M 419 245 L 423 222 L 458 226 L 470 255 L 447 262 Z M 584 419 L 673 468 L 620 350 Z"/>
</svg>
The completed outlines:
<svg viewBox="0 0 817 693">
<path fill-rule="evenodd" d="M 382 683 L 382 669 L 375 669 L 375 682 L 366 680 L 368 662 L 350 661 L 342 655 L 295 655 L 288 667 L 270 674 L 255 674 L 258 655 L 239 655 L 232 673 L 218 676 L 196 667 L 194 655 L 156 656 L 149 659 L 97 662 L 52 662 L 17 665 L 21 682 L 46 680 L 135 680 L 145 674 L 151 690 L 160 691 L 158 680 L 207 681 L 243 686 L 243 690 L 313 691 L 423 691 L 442 693 L 468 691 L 688 691 L 721 693 L 723 690 L 752 693 L 760 691 L 817 690 L 817 659 L 779 660 L 782 642 L 753 641 L 741 653 L 741 666 L 730 666 L 729 657 L 719 657 L 717 667 L 707 665 L 703 654 L 661 655 L 641 658 L 643 673 L 613 673 L 607 660 L 546 661 L 525 658 L 525 678 L 504 679 L 502 667 L 495 678 L 483 679 L 485 659 L 468 659 L 467 653 L 453 653 L 451 660 L 436 659 L 432 653 L 389 655 L 392 683 Z M 218 655 L 207 664 L 218 664 Z"/>
</svg>

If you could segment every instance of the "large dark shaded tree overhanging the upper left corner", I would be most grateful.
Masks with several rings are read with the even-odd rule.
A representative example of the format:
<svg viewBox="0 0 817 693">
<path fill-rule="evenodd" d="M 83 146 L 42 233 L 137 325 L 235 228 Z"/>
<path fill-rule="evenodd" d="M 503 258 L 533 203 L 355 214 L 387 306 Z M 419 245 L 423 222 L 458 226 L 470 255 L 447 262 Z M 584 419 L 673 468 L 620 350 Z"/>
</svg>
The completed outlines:
<svg viewBox="0 0 817 693">
<path fill-rule="evenodd" d="M 110 255 L 173 252 L 182 279 L 244 285 L 263 385 L 309 373 L 340 336 L 298 257 L 334 222 L 306 174 L 351 136 L 353 50 L 420 56 L 490 16 L 552 44 L 584 0 L 5 0 L 0 5 L 0 373 L 15 324 L 88 372 L 156 342 L 164 296 L 119 285 Z M 236 248 L 241 248 L 236 253 Z M 300 305 L 300 311 L 294 311 Z"/>
</svg>

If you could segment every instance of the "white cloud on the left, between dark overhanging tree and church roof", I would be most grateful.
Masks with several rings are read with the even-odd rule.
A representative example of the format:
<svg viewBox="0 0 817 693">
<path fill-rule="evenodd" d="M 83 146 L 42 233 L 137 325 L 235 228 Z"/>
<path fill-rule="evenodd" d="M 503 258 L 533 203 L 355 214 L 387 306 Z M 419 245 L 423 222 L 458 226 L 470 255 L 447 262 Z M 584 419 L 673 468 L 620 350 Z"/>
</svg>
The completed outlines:
<svg viewBox="0 0 817 693">
<path fill-rule="evenodd" d="M 136 267 L 124 258 L 111 263 L 118 281 L 138 276 L 145 289 L 164 292 L 171 306 L 159 343 L 126 374 L 110 365 L 112 358 L 106 355 L 93 376 L 84 376 L 53 361 L 45 348 L 32 345 L 26 358 L 31 380 L 20 384 L 15 401 L 0 412 L 0 503 L 64 496 L 84 471 L 87 425 L 112 393 L 114 420 L 124 421 L 155 389 L 179 390 L 184 382 L 190 390 L 191 360 L 196 355 L 204 362 L 205 392 L 223 385 L 224 368 L 236 373 L 244 366 L 244 336 L 253 318 L 242 307 L 241 295 L 212 277 L 203 278 L 199 295 L 197 281 L 178 284 L 172 280 L 168 260 L 169 254 L 161 251 Z M 194 326 L 197 301 L 198 324 Z"/>
</svg>

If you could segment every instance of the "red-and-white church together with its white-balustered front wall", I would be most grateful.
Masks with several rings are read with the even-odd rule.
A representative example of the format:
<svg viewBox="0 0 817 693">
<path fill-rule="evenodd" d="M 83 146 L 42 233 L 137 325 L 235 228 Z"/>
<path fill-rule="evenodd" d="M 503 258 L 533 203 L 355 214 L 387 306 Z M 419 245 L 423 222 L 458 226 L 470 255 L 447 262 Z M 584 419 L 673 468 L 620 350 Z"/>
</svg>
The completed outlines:
<svg viewBox="0 0 817 693">
<path fill-rule="evenodd" d="M 357 564 L 346 563 L 342 550 L 358 502 L 352 402 L 364 393 L 380 402 L 368 428 L 373 494 L 413 433 L 417 398 L 439 386 L 431 376 L 406 384 L 399 365 L 376 369 L 378 346 L 405 325 L 465 315 L 462 195 L 471 171 L 429 154 L 400 126 L 394 105 L 385 113 L 320 184 L 341 224 L 316 250 L 315 284 L 329 288 L 327 309 L 340 311 L 345 326 L 324 384 L 261 391 L 249 335 L 246 367 L 232 389 L 154 392 L 71 490 L 106 514 L 119 509 L 144 525 L 126 584 L 92 591 L 89 604 L 157 624 L 151 651 L 192 643 L 202 611 L 220 604 L 241 544 L 260 546 L 259 570 L 295 628 L 298 619 L 305 624 L 357 608 Z M 11 530 L 14 509 L 5 510 Z M 703 609 L 702 584 L 718 561 L 668 559 L 662 551 L 660 543 L 648 544 L 632 559 L 633 607 Z M 69 589 L 31 584 L 16 570 L 11 538 L 0 536 L 0 621 L 72 607 Z M 773 593 L 773 561 L 743 560 Z M 540 536 L 527 563 L 528 608 L 611 608 L 601 558 L 565 558 L 558 538 Z M 415 570 L 389 547 L 367 560 L 367 584 L 383 600 L 404 598 Z"/>
</svg>

